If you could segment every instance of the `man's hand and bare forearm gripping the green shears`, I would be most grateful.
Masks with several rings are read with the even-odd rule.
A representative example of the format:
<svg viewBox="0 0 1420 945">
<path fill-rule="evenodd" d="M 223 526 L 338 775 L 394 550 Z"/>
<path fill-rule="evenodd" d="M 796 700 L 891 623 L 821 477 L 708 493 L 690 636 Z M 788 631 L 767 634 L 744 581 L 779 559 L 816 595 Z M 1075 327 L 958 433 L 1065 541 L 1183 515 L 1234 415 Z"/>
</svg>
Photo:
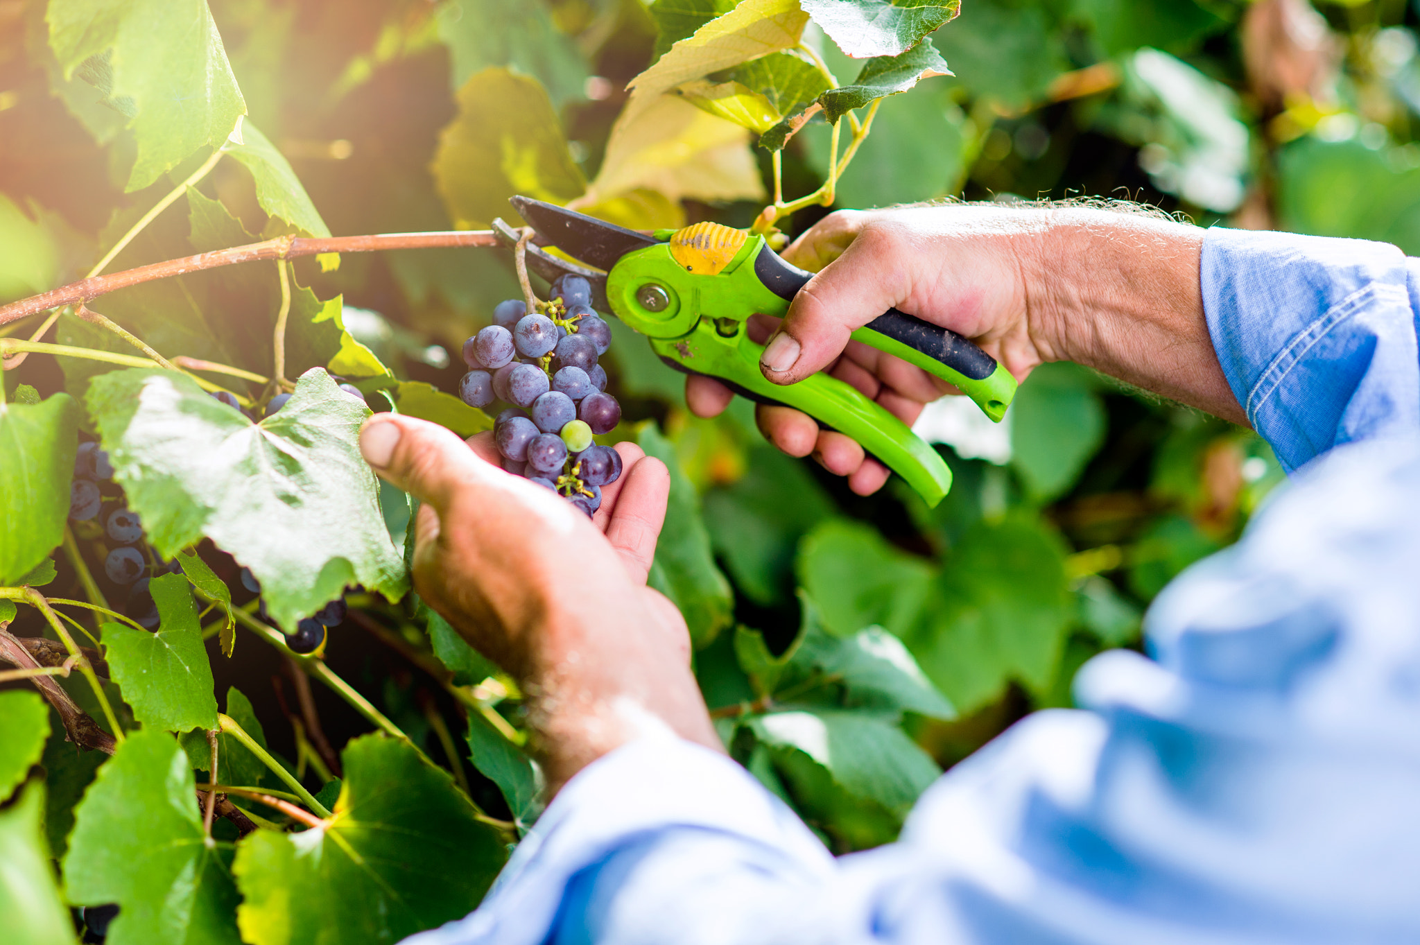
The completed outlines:
<svg viewBox="0 0 1420 945">
<path fill-rule="evenodd" d="M 1203 316 L 1203 230 L 1145 213 L 1075 206 L 944 204 L 838 211 L 784 257 L 818 272 L 782 325 L 751 322 L 764 376 L 794 383 L 816 370 L 853 385 L 905 423 L 953 393 L 905 360 L 849 341 L 889 308 L 966 335 L 1017 380 L 1039 363 L 1074 360 L 1245 423 L 1218 368 Z M 731 393 L 710 377 L 686 383 L 697 416 Z M 862 495 L 888 470 L 836 431 L 790 407 L 757 409 L 765 437 L 809 455 Z"/>
</svg>

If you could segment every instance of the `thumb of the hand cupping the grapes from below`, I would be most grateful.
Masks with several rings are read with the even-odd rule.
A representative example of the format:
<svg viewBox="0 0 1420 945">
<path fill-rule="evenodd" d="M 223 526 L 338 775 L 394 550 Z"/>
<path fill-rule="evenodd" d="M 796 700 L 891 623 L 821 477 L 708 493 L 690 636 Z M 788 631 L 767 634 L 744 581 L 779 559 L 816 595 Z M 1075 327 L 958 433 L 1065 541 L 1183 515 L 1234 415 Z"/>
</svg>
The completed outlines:
<svg viewBox="0 0 1420 945">
<path fill-rule="evenodd" d="M 439 512 L 493 472 L 450 430 L 392 413 L 378 413 L 365 421 L 359 451 L 382 480 Z"/>
</svg>

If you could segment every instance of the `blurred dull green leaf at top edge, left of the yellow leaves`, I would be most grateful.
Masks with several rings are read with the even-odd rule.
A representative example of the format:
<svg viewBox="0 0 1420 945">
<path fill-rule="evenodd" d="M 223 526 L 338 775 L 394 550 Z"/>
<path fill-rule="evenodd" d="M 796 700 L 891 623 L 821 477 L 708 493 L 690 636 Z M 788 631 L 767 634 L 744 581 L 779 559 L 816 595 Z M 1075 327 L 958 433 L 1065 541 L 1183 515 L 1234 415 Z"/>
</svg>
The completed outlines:
<svg viewBox="0 0 1420 945">
<path fill-rule="evenodd" d="M 490 65 L 531 75 L 552 104 L 582 98 L 589 70 L 582 51 L 552 23 L 544 0 L 457 0 L 439 7 L 439 38 L 449 47 L 453 88 Z"/>
</svg>

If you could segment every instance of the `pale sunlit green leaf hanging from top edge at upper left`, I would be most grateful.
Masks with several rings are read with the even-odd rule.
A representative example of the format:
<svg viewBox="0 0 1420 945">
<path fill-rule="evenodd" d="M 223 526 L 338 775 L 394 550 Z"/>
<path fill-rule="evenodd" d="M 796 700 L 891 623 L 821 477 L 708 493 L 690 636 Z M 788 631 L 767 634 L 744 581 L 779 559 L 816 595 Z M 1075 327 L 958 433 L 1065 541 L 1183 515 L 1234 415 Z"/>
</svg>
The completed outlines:
<svg viewBox="0 0 1420 945">
<path fill-rule="evenodd" d="M 80 75 L 129 116 L 129 192 L 199 148 L 220 148 L 247 112 L 204 0 L 53 0 L 45 20 L 64 78 L 101 64 Z"/>
</svg>

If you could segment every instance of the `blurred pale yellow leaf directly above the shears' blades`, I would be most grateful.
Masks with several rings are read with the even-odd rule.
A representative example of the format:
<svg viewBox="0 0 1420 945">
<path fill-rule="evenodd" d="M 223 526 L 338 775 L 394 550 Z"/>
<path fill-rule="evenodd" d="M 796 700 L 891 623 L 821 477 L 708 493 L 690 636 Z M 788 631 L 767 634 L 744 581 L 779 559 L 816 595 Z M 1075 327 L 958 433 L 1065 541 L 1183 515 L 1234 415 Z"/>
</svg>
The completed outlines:
<svg viewBox="0 0 1420 945">
<path fill-rule="evenodd" d="M 764 183 L 746 129 L 662 96 L 630 122 L 618 122 L 601 173 L 578 206 L 604 203 L 638 189 L 669 200 L 761 200 Z"/>
</svg>

